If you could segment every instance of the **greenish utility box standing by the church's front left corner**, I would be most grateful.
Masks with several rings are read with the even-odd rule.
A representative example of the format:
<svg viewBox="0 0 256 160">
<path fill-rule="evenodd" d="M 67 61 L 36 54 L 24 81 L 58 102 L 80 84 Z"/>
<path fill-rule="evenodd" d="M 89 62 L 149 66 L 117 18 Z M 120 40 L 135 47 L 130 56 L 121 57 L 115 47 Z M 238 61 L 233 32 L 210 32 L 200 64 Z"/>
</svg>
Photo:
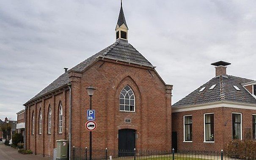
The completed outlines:
<svg viewBox="0 0 256 160">
<path fill-rule="evenodd" d="M 68 160 L 68 140 L 57 140 L 57 156 L 56 160 Z"/>
</svg>

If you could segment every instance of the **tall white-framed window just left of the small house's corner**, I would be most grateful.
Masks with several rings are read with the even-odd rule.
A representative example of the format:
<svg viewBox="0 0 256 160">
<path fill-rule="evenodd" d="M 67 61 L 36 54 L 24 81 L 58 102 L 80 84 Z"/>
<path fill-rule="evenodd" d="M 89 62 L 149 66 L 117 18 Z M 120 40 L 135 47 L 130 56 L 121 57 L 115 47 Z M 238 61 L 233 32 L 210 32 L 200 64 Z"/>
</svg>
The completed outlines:
<svg viewBox="0 0 256 160">
<path fill-rule="evenodd" d="M 204 141 L 214 141 L 214 114 L 204 114 Z"/>
</svg>

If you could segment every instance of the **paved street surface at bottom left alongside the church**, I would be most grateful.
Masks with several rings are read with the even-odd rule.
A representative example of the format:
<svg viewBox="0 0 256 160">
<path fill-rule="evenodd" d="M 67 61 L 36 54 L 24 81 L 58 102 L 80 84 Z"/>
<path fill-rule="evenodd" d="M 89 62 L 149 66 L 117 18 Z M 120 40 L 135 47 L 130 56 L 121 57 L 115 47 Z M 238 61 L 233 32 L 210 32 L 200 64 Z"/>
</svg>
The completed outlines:
<svg viewBox="0 0 256 160">
<path fill-rule="evenodd" d="M 33 154 L 22 155 L 18 153 L 17 149 L 0 144 L 0 160 L 52 160 L 52 158 Z"/>
</svg>

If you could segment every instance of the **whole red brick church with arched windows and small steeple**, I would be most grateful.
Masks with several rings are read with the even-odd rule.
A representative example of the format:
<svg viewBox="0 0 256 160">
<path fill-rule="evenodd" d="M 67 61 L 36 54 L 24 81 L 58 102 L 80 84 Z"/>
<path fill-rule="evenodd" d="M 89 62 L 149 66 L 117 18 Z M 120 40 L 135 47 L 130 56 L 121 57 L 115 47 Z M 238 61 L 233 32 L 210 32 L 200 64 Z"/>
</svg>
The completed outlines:
<svg viewBox="0 0 256 160">
<path fill-rule="evenodd" d="M 89 146 L 89 86 L 96 87 L 94 149 L 171 149 L 172 85 L 165 84 L 155 66 L 128 43 L 122 6 L 115 30 L 116 42 L 70 70 L 65 68 L 24 104 L 27 149 L 52 156 L 60 139 L 69 139 L 70 146 L 78 148 Z"/>
</svg>

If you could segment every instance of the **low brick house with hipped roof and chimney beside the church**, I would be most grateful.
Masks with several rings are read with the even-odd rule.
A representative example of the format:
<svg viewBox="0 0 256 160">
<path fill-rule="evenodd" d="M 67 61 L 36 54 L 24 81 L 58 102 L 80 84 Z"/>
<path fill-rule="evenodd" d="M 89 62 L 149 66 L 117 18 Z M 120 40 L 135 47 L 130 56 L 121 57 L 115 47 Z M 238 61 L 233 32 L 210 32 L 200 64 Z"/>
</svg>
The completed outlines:
<svg viewBox="0 0 256 160">
<path fill-rule="evenodd" d="M 216 76 L 172 106 L 178 151 L 220 151 L 232 139 L 256 139 L 256 81 L 227 75 L 228 62 L 212 65 Z"/>
</svg>

